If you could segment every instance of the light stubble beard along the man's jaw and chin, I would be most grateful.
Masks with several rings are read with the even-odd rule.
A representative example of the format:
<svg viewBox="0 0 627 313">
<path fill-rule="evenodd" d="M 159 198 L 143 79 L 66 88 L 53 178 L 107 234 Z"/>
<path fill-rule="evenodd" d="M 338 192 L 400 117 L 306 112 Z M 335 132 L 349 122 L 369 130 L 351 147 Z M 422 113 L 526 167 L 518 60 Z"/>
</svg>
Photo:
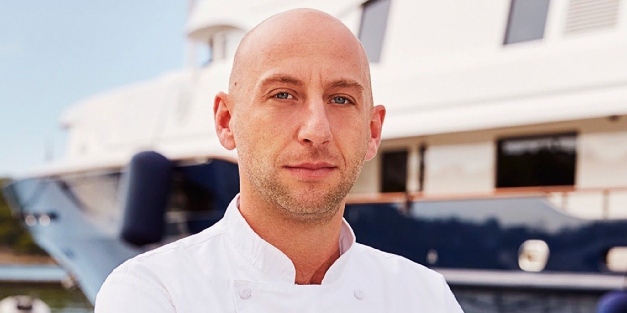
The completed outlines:
<svg viewBox="0 0 627 313">
<path fill-rule="evenodd" d="M 315 152 L 319 153 L 319 152 Z M 299 223 L 327 223 L 342 206 L 344 198 L 357 180 L 364 165 L 366 147 L 354 158 L 347 160 L 340 182 L 326 189 L 310 185 L 307 188 L 290 188 L 279 179 L 277 170 L 265 165 L 253 153 L 239 151 L 240 166 L 253 185 L 253 188 L 277 213 Z M 258 155 L 258 154 L 257 154 Z"/>
</svg>

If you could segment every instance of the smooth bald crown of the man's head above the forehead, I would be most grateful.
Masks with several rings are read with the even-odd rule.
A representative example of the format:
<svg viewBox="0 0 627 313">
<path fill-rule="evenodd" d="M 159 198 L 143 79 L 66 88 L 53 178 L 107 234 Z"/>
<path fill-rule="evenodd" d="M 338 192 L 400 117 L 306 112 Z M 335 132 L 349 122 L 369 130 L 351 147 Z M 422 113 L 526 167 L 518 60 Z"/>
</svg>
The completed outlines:
<svg viewBox="0 0 627 313">
<path fill-rule="evenodd" d="M 276 14 L 246 34 L 233 59 L 229 94 L 239 98 L 250 93 L 268 64 L 282 58 L 324 53 L 359 66 L 372 106 L 370 68 L 359 39 L 339 19 L 314 9 Z"/>
</svg>

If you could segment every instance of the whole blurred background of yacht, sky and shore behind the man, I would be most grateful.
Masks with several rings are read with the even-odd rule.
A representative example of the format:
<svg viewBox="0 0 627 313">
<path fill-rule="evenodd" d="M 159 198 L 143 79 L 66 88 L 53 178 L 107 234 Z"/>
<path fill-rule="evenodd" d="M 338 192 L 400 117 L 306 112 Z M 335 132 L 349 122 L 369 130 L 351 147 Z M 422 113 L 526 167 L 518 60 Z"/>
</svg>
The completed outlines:
<svg viewBox="0 0 627 313">
<path fill-rule="evenodd" d="M 213 96 L 300 7 L 354 31 L 387 108 L 358 242 L 465 312 L 627 312 L 623 0 L 189 0 L 0 3 L 0 313 L 92 312 L 117 265 L 221 218 Z"/>
</svg>

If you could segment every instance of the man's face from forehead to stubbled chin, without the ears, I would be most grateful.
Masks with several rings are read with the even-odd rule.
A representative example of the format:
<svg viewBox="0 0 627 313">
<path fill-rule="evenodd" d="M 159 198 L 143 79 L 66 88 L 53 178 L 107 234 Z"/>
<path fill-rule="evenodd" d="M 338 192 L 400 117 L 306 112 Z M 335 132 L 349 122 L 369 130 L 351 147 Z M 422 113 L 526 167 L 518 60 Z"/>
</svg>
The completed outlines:
<svg viewBox="0 0 627 313">
<path fill-rule="evenodd" d="M 260 76 L 235 132 L 240 166 L 300 220 L 337 211 L 366 157 L 370 103 L 341 59 L 298 56 Z"/>
</svg>

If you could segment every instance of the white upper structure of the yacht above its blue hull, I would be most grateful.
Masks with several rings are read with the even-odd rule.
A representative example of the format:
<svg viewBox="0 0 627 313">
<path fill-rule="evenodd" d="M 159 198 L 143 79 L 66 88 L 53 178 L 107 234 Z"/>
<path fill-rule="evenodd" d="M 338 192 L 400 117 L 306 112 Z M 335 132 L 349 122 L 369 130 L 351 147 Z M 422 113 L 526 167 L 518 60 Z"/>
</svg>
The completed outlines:
<svg viewBox="0 0 627 313">
<path fill-rule="evenodd" d="M 354 193 L 384 191 L 387 150 L 406 151 L 406 183 L 397 192 L 512 191 L 497 182 L 505 170 L 497 165 L 499 140 L 572 133 L 575 161 L 566 171 L 574 178 L 542 190 L 577 215 L 627 216 L 627 6 L 620 0 L 199 1 L 187 36 L 211 50 L 211 61 L 70 108 L 61 119 L 67 158 L 45 172 L 121 167 L 141 150 L 175 160 L 234 158 L 214 135 L 213 97 L 227 88 L 243 34 L 300 7 L 333 14 L 359 36 L 372 61 L 374 100 L 387 108 L 382 151 Z"/>
</svg>

